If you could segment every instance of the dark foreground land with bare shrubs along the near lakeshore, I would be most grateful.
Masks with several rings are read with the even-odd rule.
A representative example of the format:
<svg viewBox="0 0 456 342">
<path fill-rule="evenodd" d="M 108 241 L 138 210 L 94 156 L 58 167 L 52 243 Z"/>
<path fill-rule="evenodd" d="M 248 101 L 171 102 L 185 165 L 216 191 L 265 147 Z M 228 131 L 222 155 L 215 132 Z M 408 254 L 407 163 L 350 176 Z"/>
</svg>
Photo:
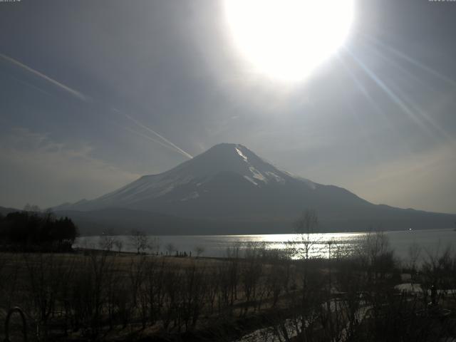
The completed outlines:
<svg viewBox="0 0 456 342">
<path fill-rule="evenodd" d="M 456 338 L 450 251 L 400 264 L 379 234 L 331 260 L 294 252 L 252 244 L 222 259 L 0 253 L 0 338 L 14 306 L 28 341 L 236 341 L 265 327 L 276 341 Z M 19 318 L 11 341 L 22 341 Z"/>
</svg>

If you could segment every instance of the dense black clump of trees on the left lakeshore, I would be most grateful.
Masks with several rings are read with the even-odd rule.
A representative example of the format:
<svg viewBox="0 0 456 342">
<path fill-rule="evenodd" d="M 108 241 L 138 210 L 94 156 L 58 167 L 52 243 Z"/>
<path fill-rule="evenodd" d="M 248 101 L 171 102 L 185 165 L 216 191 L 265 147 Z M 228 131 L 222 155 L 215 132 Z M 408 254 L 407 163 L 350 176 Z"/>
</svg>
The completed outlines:
<svg viewBox="0 0 456 342">
<path fill-rule="evenodd" d="M 68 217 L 51 212 L 11 212 L 0 216 L 0 249 L 12 251 L 68 252 L 78 228 Z"/>
</svg>

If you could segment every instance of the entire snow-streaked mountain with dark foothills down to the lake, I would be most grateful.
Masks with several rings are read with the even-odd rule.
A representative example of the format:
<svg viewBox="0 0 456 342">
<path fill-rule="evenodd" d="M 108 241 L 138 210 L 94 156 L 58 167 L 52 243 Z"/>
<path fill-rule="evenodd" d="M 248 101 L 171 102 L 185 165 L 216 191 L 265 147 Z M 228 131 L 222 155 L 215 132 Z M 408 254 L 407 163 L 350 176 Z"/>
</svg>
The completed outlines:
<svg viewBox="0 0 456 342">
<path fill-rule="evenodd" d="M 352 192 L 279 170 L 239 144 L 219 144 L 158 175 L 145 175 L 93 200 L 61 204 L 83 234 L 106 229 L 152 234 L 291 232 L 304 210 L 325 231 L 450 228 L 456 215 L 372 204 Z"/>
</svg>

